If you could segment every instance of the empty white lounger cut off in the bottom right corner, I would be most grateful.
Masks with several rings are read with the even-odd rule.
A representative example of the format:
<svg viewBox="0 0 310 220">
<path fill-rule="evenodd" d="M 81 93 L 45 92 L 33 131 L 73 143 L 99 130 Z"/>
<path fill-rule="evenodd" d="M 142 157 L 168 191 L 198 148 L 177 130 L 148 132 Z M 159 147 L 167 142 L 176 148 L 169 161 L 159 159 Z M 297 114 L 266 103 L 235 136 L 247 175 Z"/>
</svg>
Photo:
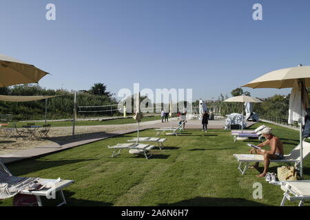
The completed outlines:
<svg viewBox="0 0 310 220">
<path fill-rule="evenodd" d="M 285 191 L 280 206 L 285 206 L 285 202 L 300 201 L 298 206 L 303 206 L 304 201 L 310 199 L 310 180 L 281 181 L 281 189 Z"/>
</svg>

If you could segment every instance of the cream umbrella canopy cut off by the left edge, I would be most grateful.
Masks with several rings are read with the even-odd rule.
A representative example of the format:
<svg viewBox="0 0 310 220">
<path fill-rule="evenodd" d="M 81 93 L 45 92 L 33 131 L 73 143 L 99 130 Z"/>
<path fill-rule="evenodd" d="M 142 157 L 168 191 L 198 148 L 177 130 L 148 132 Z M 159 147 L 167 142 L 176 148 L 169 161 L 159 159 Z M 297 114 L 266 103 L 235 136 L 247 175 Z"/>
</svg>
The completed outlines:
<svg viewBox="0 0 310 220">
<path fill-rule="evenodd" d="M 0 54 L 0 87 L 38 83 L 46 74 L 34 65 Z"/>
</svg>

